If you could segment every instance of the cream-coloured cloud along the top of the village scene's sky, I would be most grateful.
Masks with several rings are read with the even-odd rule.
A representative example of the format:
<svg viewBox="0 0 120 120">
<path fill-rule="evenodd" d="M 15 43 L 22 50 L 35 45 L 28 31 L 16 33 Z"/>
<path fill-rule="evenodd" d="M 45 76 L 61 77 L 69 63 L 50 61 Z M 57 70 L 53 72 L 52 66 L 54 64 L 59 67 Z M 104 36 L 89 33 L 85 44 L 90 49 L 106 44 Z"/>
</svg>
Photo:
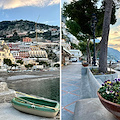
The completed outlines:
<svg viewBox="0 0 120 120">
<path fill-rule="evenodd" d="M 24 6 L 44 7 L 59 3 L 60 0 L 0 0 L 0 8 L 12 9 Z"/>
</svg>

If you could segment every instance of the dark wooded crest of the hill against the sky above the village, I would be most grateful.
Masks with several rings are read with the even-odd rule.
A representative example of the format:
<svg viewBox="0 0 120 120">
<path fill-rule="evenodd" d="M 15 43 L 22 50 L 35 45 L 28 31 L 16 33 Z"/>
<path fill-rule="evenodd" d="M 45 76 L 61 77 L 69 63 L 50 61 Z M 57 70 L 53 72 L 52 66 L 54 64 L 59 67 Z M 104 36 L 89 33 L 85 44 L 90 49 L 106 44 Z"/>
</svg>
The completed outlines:
<svg viewBox="0 0 120 120">
<path fill-rule="evenodd" d="M 46 24 L 37 23 L 37 29 L 59 29 L 58 26 L 50 26 Z M 27 20 L 16 20 L 16 21 L 2 21 L 0 22 L 0 36 L 12 34 L 13 31 L 24 32 L 35 30 L 35 22 Z"/>
</svg>

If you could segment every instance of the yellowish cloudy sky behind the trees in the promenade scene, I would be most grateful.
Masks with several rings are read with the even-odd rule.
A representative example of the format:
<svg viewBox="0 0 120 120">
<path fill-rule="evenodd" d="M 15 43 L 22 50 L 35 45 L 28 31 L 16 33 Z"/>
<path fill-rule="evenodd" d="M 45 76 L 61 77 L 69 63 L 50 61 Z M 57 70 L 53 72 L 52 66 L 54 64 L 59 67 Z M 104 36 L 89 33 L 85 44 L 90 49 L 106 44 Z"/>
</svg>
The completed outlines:
<svg viewBox="0 0 120 120">
<path fill-rule="evenodd" d="M 71 1 L 73 0 L 62 0 L 61 4 L 64 2 L 70 3 Z M 98 2 L 98 6 L 101 5 L 101 1 Z M 116 18 L 117 22 L 114 25 L 110 25 L 108 46 L 120 51 L 120 9 L 116 12 Z M 101 38 L 98 39 L 101 40 Z"/>
</svg>

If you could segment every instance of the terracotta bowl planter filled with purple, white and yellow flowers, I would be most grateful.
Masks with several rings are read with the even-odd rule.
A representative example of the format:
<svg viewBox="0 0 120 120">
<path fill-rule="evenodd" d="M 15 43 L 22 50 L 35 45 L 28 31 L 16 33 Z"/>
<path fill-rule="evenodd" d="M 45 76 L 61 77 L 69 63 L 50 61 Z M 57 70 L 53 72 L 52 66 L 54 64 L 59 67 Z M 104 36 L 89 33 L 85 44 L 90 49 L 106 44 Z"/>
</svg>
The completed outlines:
<svg viewBox="0 0 120 120">
<path fill-rule="evenodd" d="M 120 79 L 105 81 L 97 94 L 103 106 L 120 120 Z"/>
</svg>

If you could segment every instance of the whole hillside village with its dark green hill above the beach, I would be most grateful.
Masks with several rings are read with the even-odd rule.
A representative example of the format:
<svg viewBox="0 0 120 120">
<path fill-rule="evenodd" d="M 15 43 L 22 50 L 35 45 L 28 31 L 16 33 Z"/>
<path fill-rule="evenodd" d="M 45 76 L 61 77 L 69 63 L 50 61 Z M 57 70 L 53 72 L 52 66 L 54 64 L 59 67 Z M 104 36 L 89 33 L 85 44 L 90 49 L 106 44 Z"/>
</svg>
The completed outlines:
<svg viewBox="0 0 120 120">
<path fill-rule="evenodd" d="M 57 26 L 23 20 L 0 22 L 1 70 L 59 67 L 59 43 L 60 28 Z"/>
</svg>

